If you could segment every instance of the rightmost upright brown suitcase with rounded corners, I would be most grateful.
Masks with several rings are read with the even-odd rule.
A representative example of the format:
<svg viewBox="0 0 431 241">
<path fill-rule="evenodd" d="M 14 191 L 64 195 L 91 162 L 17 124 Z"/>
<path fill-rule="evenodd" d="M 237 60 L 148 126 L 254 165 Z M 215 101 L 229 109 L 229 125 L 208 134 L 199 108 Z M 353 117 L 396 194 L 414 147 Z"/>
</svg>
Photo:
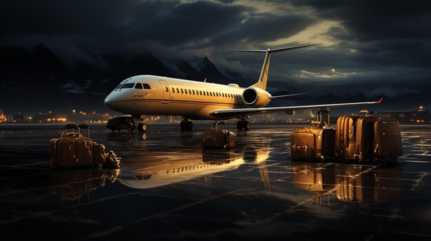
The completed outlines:
<svg viewBox="0 0 431 241">
<path fill-rule="evenodd" d="M 399 122 L 396 119 L 377 119 L 374 122 L 374 157 L 396 160 L 403 154 Z"/>
</svg>

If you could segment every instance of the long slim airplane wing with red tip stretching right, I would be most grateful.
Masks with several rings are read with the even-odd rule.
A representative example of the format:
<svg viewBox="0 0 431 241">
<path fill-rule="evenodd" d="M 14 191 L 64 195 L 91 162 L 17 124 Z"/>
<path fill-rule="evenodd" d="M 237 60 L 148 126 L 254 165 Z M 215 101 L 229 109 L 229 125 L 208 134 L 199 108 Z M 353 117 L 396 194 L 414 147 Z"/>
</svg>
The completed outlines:
<svg viewBox="0 0 431 241">
<path fill-rule="evenodd" d="M 280 111 L 300 111 L 300 110 L 313 110 L 313 109 L 326 109 L 334 107 L 346 107 L 346 106 L 359 106 L 364 104 L 379 104 L 383 98 L 375 102 L 353 102 L 353 103 L 342 103 L 342 104 L 315 104 L 309 106 L 282 106 L 282 107 L 262 107 L 262 108 L 233 108 L 225 110 L 216 110 L 210 113 L 214 117 L 239 117 L 241 115 L 257 115 L 264 113 L 274 113 Z"/>
</svg>

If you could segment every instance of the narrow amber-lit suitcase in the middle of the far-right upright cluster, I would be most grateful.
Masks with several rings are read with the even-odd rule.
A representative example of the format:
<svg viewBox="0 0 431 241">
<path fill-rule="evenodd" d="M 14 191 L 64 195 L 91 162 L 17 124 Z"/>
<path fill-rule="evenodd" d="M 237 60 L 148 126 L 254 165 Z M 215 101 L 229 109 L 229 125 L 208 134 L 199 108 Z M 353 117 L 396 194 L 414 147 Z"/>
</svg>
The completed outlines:
<svg viewBox="0 0 431 241">
<path fill-rule="evenodd" d="M 374 138 L 374 122 L 381 117 L 365 116 L 359 117 L 356 124 L 355 154 L 357 160 L 372 160 Z"/>
</svg>

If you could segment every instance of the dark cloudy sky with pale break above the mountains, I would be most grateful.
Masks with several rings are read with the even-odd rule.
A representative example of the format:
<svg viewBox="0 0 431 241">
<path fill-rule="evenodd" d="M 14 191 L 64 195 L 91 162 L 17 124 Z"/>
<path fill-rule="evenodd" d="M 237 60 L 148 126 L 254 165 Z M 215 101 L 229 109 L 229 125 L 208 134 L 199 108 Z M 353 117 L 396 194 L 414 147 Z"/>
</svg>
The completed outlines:
<svg viewBox="0 0 431 241">
<path fill-rule="evenodd" d="M 5 0 L 0 22 L 3 46 L 44 43 L 63 60 L 143 49 L 164 60 L 208 56 L 242 86 L 264 56 L 236 49 L 315 44 L 273 55 L 269 87 L 431 91 L 431 1 Z"/>
</svg>

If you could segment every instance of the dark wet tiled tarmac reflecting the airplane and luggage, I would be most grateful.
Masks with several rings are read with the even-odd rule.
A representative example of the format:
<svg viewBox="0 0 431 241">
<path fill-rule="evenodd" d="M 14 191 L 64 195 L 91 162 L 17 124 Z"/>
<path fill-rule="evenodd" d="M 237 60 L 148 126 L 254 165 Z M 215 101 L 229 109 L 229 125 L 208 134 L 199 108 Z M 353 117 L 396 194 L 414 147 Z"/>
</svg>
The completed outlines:
<svg viewBox="0 0 431 241">
<path fill-rule="evenodd" d="M 284 125 L 202 150 L 207 126 L 94 127 L 92 139 L 123 158 L 119 171 L 51 170 L 61 126 L 0 126 L 2 240 L 430 240 L 431 126 L 402 126 L 397 163 L 291 161 L 297 126 Z"/>
</svg>

